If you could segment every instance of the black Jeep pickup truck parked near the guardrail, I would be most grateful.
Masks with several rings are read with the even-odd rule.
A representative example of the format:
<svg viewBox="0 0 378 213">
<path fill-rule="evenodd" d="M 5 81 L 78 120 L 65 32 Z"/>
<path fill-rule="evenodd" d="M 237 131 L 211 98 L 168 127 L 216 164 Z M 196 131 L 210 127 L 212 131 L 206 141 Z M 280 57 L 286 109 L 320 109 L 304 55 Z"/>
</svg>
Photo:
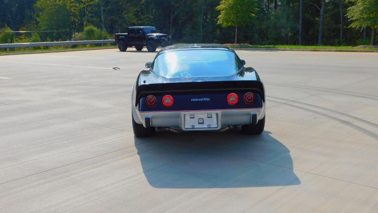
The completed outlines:
<svg viewBox="0 0 378 213">
<path fill-rule="evenodd" d="M 171 45 L 170 39 L 169 35 L 159 33 L 155 27 L 129 27 L 128 33 L 116 33 L 114 42 L 121 52 L 133 46 L 136 50 L 142 50 L 146 46 L 148 52 L 155 52 L 158 46 Z"/>
</svg>

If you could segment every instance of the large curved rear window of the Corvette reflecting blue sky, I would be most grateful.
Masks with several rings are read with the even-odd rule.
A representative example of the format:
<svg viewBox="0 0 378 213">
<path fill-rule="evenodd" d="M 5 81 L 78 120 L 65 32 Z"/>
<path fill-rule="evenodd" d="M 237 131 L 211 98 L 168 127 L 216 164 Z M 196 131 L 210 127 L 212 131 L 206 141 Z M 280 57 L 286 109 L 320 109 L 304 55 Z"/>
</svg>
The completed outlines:
<svg viewBox="0 0 378 213">
<path fill-rule="evenodd" d="M 242 63 L 227 50 L 179 50 L 161 53 L 151 68 L 168 78 L 218 77 L 237 73 Z"/>
</svg>

